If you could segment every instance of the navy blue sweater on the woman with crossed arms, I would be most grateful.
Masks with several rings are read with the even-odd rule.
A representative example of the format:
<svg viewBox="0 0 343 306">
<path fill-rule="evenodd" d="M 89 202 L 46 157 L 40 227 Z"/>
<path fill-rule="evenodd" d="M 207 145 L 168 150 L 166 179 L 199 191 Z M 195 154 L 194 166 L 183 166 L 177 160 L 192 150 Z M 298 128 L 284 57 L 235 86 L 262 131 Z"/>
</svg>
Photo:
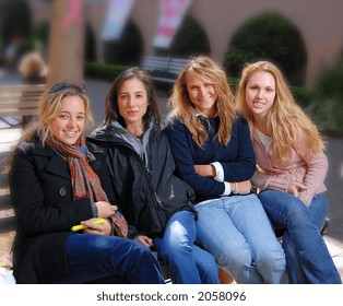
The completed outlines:
<svg viewBox="0 0 343 306">
<path fill-rule="evenodd" d="M 256 156 L 246 120 L 240 116 L 236 117 L 230 140 L 224 146 L 215 137 L 218 130 L 218 117 L 206 119 L 199 116 L 198 118 L 209 130 L 203 148 L 199 148 L 193 142 L 191 133 L 178 119 L 168 121 L 164 129 L 176 162 L 177 175 L 193 188 L 197 202 L 218 198 L 224 193 L 225 186 L 224 183 L 198 175 L 194 165 L 220 162 L 224 169 L 225 181 L 250 179 L 256 169 Z"/>
</svg>

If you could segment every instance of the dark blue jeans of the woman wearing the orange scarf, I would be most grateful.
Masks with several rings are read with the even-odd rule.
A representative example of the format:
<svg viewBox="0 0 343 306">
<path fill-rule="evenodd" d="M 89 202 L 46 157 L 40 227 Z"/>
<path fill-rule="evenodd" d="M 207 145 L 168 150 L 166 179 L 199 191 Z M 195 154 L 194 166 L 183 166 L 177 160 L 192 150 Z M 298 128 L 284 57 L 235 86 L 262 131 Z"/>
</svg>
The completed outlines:
<svg viewBox="0 0 343 306">
<path fill-rule="evenodd" d="M 58 283 L 165 283 L 151 250 L 131 239 L 71 234 L 66 252 L 69 274 Z"/>
</svg>

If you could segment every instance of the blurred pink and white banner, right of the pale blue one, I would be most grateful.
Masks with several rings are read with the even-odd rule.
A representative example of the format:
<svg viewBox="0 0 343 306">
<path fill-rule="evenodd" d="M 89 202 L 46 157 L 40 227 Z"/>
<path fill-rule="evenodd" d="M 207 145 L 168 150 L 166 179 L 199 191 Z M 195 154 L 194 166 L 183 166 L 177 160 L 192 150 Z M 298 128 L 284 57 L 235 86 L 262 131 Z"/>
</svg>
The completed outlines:
<svg viewBox="0 0 343 306">
<path fill-rule="evenodd" d="M 162 0 L 157 34 L 153 46 L 168 48 L 179 28 L 191 0 Z"/>
</svg>

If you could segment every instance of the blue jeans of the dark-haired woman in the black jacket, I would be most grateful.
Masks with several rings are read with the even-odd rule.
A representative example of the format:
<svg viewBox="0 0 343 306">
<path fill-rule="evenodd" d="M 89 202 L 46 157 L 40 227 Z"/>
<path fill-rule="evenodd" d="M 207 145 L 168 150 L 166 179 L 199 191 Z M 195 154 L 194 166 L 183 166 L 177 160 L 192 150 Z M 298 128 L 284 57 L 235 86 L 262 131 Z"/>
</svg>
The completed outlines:
<svg viewBox="0 0 343 306">
<path fill-rule="evenodd" d="M 196 237 L 193 213 L 179 211 L 168 220 L 163 238 L 155 238 L 154 245 L 159 258 L 169 266 L 173 283 L 217 284 L 215 258 L 194 245 Z"/>
</svg>

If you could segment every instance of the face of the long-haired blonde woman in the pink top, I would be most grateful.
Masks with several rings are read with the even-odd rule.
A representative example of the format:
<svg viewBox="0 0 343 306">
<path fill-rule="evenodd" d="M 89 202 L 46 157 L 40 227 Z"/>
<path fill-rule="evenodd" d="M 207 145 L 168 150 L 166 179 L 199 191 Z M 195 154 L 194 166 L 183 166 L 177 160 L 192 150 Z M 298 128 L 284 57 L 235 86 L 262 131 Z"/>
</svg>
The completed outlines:
<svg viewBox="0 0 343 306">
<path fill-rule="evenodd" d="M 246 103 L 256 118 L 263 118 L 275 99 L 275 79 L 267 71 L 253 72 L 246 86 Z"/>
</svg>

